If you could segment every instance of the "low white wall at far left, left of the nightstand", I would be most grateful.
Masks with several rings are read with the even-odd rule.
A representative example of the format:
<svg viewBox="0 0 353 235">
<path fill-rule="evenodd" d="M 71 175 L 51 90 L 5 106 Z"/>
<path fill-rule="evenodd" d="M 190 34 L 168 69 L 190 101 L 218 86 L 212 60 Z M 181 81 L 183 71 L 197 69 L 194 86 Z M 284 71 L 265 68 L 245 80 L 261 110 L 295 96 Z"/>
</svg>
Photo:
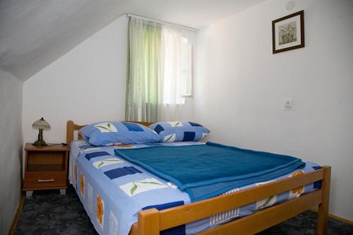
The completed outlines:
<svg viewBox="0 0 353 235">
<path fill-rule="evenodd" d="M 21 191 L 22 82 L 0 70 L 0 234 L 7 234 Z"/>
</svg>

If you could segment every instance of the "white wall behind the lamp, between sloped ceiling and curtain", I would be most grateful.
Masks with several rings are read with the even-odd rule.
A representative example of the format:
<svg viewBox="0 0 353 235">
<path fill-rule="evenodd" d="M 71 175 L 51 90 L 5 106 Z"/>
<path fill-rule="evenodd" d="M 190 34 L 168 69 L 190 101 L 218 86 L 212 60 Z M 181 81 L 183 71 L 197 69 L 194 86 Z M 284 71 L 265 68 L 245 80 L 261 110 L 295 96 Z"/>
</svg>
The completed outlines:
<svg viewBox="0 0 353 235">
<path fill-rule="evenodd" d="M 66 121 L 87 124 L 123 120 L 126 90 L 127 18 L 121 16 L 23 83 L 23 138 L 33 142 L 32 123 L 51 125 L 47 143 L 66 143 Z"/>
</svg>

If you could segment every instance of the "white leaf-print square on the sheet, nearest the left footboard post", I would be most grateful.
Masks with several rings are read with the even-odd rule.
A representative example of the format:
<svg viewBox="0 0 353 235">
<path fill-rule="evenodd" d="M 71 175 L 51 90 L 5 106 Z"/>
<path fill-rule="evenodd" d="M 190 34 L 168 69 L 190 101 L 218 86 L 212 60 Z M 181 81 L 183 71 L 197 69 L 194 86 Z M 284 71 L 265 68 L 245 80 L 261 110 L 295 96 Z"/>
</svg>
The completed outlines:
<svg viewBox="0 0 353 235">
<path fill-rule="evenodd" d="M 130 183 L 126 183 L 120 186 L 120 188 L 130 197 L 138 193 L 143 193 L 146 191 L 151 191 L 158 188 L 167 188 L 167 187 L 168 186 L 164 185 L 163 183 L 161 183 L 160 181 L 154 178 L 143 179 L 140 181 L 132 181 Z"/>
</svg>

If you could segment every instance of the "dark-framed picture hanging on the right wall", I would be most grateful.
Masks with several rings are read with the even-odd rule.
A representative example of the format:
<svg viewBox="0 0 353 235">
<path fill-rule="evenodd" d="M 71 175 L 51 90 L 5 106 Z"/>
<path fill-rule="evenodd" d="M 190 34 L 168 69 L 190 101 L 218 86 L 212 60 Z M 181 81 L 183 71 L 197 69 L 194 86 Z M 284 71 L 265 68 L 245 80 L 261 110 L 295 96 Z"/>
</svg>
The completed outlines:
<svg viewBox="0 0 353 235">
<path fill-rule="evenodd" d="M 304 11 L 272 21 L 273 54 L 305 47 Z"/>
</svg>

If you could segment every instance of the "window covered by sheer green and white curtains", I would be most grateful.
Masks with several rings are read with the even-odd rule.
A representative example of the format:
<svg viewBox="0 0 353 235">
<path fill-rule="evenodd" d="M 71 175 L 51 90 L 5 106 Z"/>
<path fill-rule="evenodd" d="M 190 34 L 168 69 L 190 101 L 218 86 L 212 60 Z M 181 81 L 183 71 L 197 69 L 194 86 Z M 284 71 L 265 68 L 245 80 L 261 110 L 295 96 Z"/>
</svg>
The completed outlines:
<svg viewBox="0 0 353 235">
<path fill-rule="evenodd" d="M 128 25 L 126 120 L 177 120 L 192 95 L 195 33 L 139 18 Z"/>
</svg>

